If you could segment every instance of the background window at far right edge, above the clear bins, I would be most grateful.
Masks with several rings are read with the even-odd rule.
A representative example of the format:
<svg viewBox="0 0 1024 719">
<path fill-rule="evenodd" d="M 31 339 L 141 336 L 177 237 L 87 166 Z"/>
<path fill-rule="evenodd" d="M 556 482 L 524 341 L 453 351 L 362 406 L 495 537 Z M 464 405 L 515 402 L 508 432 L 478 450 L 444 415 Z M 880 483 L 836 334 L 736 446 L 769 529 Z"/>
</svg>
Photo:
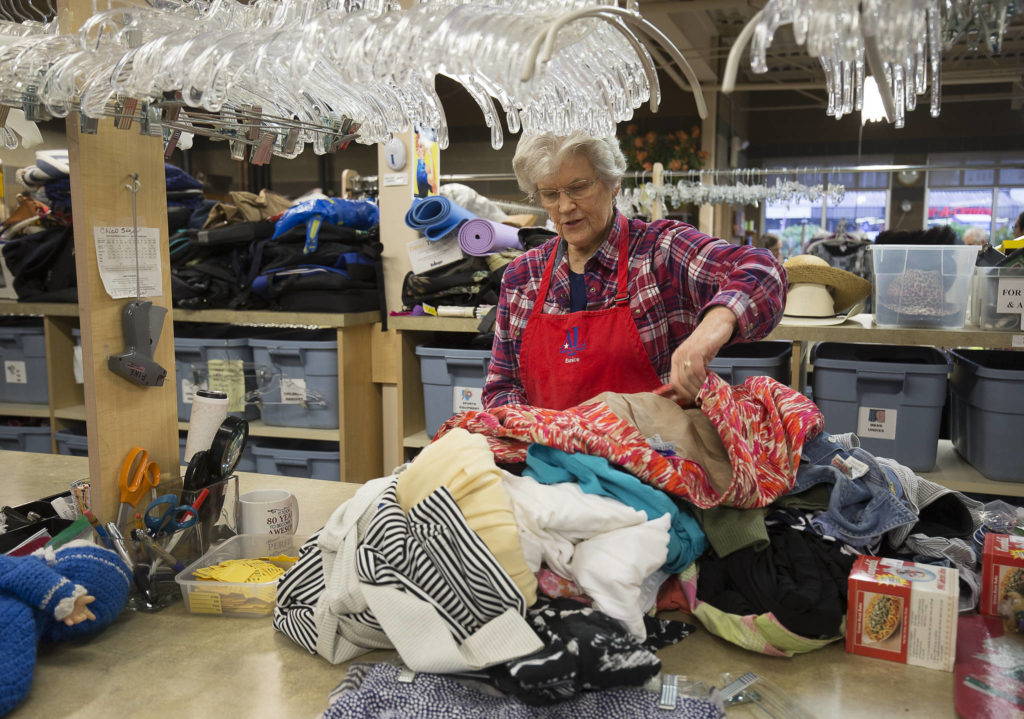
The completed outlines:
<svg viewBox="0 0 1024 719">
<path fill-rule="evenodd" d="M 969 227 L 978 227 L 993 244 L 1013 238 L 1024 212 L 1024 155 L 936 154 L 928 164 L 961 168 L 929 171 L 929 227 L 949 225 L 962 240 Z"/>
</svg>

